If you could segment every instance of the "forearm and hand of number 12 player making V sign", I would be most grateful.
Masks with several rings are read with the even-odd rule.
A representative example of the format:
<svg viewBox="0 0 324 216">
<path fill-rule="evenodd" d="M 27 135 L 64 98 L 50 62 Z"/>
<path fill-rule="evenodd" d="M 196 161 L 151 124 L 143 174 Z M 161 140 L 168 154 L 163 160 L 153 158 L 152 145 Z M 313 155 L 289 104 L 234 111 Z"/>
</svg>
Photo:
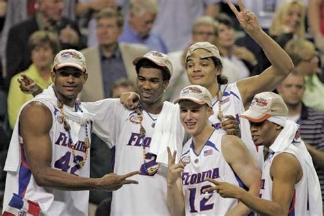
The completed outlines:
<svg viewBox="0 0 324 216">
<path fill-rule="evenodd" d="M 176 151 L 171 154 L 167 147 L 167 206 L 174 216 L 185 215 L 185 198 L 183 197 L 183 183 L 180 177 L 183 172 L 183 163 L 175 164 Z"/>
</svg>

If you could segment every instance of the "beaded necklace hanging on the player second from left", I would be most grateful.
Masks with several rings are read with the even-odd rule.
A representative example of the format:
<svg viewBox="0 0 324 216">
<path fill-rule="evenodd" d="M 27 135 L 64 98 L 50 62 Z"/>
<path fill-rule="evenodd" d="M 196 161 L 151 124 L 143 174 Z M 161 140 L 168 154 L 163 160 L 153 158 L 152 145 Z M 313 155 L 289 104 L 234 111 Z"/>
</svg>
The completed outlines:
<svg viewBox="0 0 324 216">
<path fill-rule="evenodd" d="M 146 130 L 144 129 L 144 126 L 143 126 L 143 106 L 141 105 L 140 100 L 139 100 L 139 105 L 136 108 L 136 114 L 137 114 L 137 119 L 139 120 L 139 126 L 140 126 L 139 127 L 139 136 L 141 137 L 141 146 L 143 148 L 144 170 L 145 170 L 146 174 L 148 174 L 148 176 L 153 176 L 154 174 L 157 173 L 157 170 L 159 170 L 160 165 L 148 168 L 147 163 L 146 163 L 147 152 L 145 150 L 145 144 L 144 144 Z"/>
</svg>

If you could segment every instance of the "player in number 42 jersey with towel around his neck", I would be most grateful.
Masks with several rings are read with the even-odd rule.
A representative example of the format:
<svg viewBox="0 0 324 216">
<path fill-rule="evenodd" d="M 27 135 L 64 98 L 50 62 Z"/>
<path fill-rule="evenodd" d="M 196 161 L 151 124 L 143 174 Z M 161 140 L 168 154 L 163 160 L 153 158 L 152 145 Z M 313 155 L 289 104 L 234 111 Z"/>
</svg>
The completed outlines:
<svg viewBox="0 0 324 216">
<path fill-rule="evenodd" d="M 89 189 L 115 190 L 138 172 L 89 178 L 92 116 L 77 100 L 87 81 L 85 58 L 59 52 L 53 85 L 26 103 L 14 127 L 4 170 L 7 215 L 87 215 Z"/>
</svg>

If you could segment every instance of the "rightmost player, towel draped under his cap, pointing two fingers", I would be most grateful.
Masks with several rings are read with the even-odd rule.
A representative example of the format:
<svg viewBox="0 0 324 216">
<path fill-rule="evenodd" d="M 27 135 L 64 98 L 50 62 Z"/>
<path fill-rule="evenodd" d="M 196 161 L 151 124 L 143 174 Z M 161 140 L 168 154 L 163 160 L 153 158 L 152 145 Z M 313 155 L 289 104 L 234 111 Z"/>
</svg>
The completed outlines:
<svg viewBox="0 0 324 216">
<path fill-rule="evenodd" d="M 262 171 L 260 198 L 229 183 L 206 191 L 237 198 L 260 215 L 323 215 L 321 187 L 299 126 L 286 120 L 288 108 L 278 94 L 256 94 L 241 117 L 249 120 L 254 143 L 269 148 Z"/>
</svg>

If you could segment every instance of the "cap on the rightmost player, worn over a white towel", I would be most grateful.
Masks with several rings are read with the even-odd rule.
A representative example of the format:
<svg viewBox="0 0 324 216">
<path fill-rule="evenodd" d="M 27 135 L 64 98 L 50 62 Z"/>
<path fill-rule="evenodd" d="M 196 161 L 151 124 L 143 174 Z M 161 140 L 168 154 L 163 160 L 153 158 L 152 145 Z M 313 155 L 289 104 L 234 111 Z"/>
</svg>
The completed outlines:
<svg viewBox="0 0 324 216">
<path fill-rule="evenodd" d="M 251 122 L 262 122 L 271 117 L 286 117 L 288 107 L 282 97 L 273 92 L 262 92 L 254 96 L 249 109 L 241 114 Z"/>
</svg>

